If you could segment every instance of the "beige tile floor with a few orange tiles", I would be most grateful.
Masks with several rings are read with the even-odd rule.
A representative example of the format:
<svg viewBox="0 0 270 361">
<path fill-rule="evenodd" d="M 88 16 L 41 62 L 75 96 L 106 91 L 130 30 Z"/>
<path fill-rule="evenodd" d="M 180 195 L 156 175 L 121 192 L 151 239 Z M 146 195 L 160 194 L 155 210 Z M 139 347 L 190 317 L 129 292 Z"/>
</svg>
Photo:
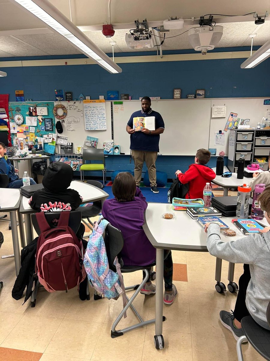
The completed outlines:
<svg viewBox="0 0 270 361">
<path fill-rule="evenodd" d="M 217 193 L 218 194 L 218 193 Z M 0 222 L 4 244 L 0 256 L 13 253 L 8 223 Z M 15 280 L 14 258 L 0 258 L 1 361 L 237 361 L 236 342 L 219 321 L 221 309 L 234 307 L 236 295 L 215 291 L 215 258 L 204 252 L 173 251 L 174 283 L 178 296 L 164 306 L 165 349 L 154 347 L 154 325 L 112 339 L 111 326 L 121 309 L 121 300 L 81 301 L 77 290 L 49 294 L 40 290 L 35 308 L 30 301 L 11 296 Z M 223 262 L 222 281 L 227 284 L 228 262 Z M 242 265 L 235 266 L 235 281 Z M 141 272 L 125 274 L 125 284 L 138 283 Z M 154 317 L 155 296 L 140 295 L 135 307 L 144 319 Z M 119 326 L 135 321 L 132 311 Z M 264 360 L 246 344 L 245 361 Z"/>
</svg>

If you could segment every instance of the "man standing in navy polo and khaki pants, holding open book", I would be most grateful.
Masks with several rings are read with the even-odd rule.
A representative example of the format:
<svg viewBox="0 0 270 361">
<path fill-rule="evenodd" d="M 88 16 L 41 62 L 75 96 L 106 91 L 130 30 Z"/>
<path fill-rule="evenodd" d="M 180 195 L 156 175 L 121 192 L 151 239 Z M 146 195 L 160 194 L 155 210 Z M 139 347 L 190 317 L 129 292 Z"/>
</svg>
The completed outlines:
<svg viewBox="0 0 270 361">
<path fill-rule="evenodd" d="M 131 114 L 126 127 L 126 131 L 130 134 L 131 156 L 135 164 L 134 177 L 136 185 L 139 187 L 141 171 L 145 162 L 148 169 L 151 191 L 158 193 L 156 160 L 157 153 L 159 152 L 159 134 L 162 134 L 165 129 L 164 121 L 162 116 L 151 108 L 151 99 L 148 96 L 144 96 L 141 99 L 141 109 Z M 133 129 L 133 118 L 136 117 L 154 117 L 155 130 L 143 128 L 141 131 L 135 131 Z"/>
</svg>

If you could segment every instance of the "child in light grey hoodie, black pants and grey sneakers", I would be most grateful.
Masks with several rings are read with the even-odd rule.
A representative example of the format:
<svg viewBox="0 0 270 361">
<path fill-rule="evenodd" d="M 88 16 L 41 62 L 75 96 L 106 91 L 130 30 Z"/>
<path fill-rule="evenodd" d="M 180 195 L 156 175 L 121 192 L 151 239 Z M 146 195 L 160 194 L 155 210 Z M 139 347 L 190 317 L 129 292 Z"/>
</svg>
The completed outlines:
<svg viewBox="0 0 270 361">
<path fill-rule="evenodd" d="M 258 198 L 265 218 L 270 224 L 270 187 Z M 238 306 L 234 313 L 220 312 L 223 326 L 229 329 L 236 340 L 243 335 L 241 319 L 249 314 L 262 327 L 270 330 L 266 319 L 266 309 L 270 301 L 270 227 L 265 227 L 262 234 L 252 234 L 237 241 L 223 242 L 220 227 L 216 223 L 207 223 L 207 248 L 212 256 L 233 263 L 244 263 L 250 270 L 249 282 L 239 279 Z M 241 304 L 242 303 L 242 304 Z"/>
</svg>

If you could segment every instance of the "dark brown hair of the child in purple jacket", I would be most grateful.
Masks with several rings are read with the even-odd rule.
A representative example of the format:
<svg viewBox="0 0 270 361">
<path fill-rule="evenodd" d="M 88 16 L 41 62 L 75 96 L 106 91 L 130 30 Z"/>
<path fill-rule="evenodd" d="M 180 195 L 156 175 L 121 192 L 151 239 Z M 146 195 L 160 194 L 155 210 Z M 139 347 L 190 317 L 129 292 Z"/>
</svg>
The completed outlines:
<svg viewBox="0 0 270 361">
<path fill-rule="evenodd" d="M 118 173 L 114 178 L 112 192 L 118 202 L 130 202 L 134 200 L 136 193 L 136 182 L 129 172 Z"/>
</svg>

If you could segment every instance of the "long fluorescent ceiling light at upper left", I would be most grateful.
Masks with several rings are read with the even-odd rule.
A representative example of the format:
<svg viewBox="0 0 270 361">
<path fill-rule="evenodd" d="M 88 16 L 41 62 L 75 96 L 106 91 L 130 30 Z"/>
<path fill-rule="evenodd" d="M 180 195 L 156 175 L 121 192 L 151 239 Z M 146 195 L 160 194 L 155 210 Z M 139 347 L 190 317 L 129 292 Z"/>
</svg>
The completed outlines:
<svg viewBox="0 0 270 361">
<path fill-rule="evenodd" d="M 51 29 L 64 36 L 74 47 L 93 59 L 102 68 L 110 73 L 122 73 L 120 66 L 115 64 L 48 0 L 12 0 L 12 2 L 23 6 L 24 9 L 45 22 Z"/>
</svg>

